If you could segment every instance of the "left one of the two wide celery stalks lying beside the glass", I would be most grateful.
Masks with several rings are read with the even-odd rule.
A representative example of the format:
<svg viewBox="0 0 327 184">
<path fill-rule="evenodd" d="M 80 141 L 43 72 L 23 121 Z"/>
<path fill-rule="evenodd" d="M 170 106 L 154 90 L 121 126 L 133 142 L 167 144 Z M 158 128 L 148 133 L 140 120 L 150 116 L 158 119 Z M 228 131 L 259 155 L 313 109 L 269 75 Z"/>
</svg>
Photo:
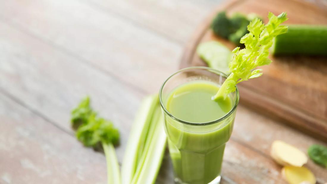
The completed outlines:
<svg viewBox="0 0 327 184">
<path fill-rule="evenodd" d="M 123 158 L 121 170 L 122 184 L 130 184 L 132 182 L 137 165 L 144 151 L 146 136 L 158 103 L 158 95 L 148 96 L 143 100 L 136 114 Z"/>
</svg>

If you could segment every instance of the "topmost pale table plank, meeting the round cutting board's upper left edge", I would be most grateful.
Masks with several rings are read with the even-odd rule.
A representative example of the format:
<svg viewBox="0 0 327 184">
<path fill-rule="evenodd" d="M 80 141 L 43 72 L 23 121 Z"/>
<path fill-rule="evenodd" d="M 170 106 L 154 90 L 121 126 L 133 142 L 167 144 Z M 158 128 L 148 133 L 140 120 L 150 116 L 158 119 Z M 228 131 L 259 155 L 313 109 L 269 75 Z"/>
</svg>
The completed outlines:
<svg viewBox="0 0 327 184">
<path fill-rule="evenodd" d="M 194 0 L 92 0 L 87 2 L 108 13 L 115 13 L 144 28 L 154 30 L 171 41 L 184 44 L 193 32 L 194 26 L 198 25 L 212 7 L 222 0 L 204 3 Z"/>
</svg>

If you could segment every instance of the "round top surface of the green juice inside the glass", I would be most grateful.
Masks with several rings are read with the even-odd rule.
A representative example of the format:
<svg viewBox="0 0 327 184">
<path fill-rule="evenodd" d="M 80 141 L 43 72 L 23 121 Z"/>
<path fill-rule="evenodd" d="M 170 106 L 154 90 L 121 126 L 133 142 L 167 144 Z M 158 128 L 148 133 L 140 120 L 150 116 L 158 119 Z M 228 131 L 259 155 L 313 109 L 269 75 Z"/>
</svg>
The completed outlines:
<svg viewBox="0 0 327 184">
<path fill-rule="evenodd" d="M 176 88 L 167 100 L 167 110 L 176 118 L 204 123 L 217 120 L 226 115 L 232 108 L 230 98 L 225 101 L 213 101 L 219 89 L 215 83 L 190 82 Z"/>
</svg>

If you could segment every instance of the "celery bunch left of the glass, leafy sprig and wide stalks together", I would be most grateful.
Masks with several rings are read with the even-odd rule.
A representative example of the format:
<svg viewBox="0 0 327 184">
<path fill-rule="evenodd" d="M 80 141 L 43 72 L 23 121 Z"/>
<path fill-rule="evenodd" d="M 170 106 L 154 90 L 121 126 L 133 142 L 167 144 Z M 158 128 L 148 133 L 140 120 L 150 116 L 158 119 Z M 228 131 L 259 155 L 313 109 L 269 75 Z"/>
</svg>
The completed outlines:
<svg viewBox="0 0 327 184">
<path fill-rule="evenodd" d="M 113 145 L 119 132 L 111 121 L 99 118 L 84 98 L 72 111 L 72 127 L 84 146 L 102 148 L 107 160 L 108 184 L 152 184 L 161 166 L 166 145 L 163 117 L 158 95 L 147 97 L 141 104 L 131 128 L 122 164 L 122 177 Z"/>
</svg>

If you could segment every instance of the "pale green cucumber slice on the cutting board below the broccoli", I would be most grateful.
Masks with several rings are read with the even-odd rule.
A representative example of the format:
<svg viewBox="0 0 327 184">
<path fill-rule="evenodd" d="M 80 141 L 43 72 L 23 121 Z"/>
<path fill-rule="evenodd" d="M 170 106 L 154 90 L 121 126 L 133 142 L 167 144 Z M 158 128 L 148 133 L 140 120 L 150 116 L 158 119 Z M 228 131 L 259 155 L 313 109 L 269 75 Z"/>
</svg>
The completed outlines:
<svg viewBox="0 0 327 184">
<path fill-rule="evenodd" d="M 209 67 L 229 75 L 228 64 L 232 59 L 232 52 L 217 41 L 204 42 L 198 45 L 197 53 Z"/>
</svg>

